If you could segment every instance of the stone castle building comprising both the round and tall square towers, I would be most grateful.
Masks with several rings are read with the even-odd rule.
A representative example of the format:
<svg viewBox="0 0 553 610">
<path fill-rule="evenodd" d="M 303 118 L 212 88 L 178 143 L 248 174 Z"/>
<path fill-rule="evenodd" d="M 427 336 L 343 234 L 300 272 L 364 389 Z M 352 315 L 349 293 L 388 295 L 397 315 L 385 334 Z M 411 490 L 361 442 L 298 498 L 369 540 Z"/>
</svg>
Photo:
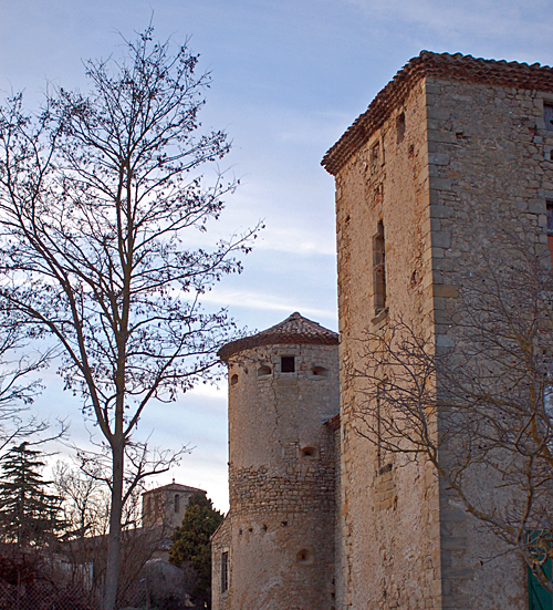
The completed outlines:
<svg viewBox="0 0 553 610">
<path fill-rule="evenodd" d="M 524 561 L 430 464 L 382 463 L 355 434 L 346 371 L 366 330 L 393 319 L 451 344 L 459 289 L 495 227 L 547 252 L 552 151 L 552 69 L 424 51 L 325 155 L 340 359 L 337 337 L 299 314 L 221 350 L 230 511 L 213 536 L 215 610 L 532 607 Z"/>
</svg>

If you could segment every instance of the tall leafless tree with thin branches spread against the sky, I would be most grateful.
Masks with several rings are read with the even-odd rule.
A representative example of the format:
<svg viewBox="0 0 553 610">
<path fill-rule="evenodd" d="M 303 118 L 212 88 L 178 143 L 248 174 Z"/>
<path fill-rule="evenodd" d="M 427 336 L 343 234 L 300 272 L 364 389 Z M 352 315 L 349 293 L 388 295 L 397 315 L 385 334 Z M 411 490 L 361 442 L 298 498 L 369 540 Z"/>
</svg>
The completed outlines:
<svg viewBox="0 0 553 610">
<path fill-rule="evenodd" d="M 119 572 L 125 456 L 146 405 L 209 380 L 233 324 L 201 296 L 240 272 L 255 230 L 188 247 L 218 219 L 236 183 L 204 187 L 199 168 L 229 151 L 196 135 L 209 75 L 187 45 L 174 55 L 148 28 L 119 61 L 88 61 L 88 95 L 61 89 L 29 117 L 21 96 L 0 113 L 0 299 L 33 337 L 63 350 L 111 452 L 104 608 Z M 190 235 L 191 231 L 191 235 Z M 199 234 L 198 234 L 199 231 Z"/>
</svg>

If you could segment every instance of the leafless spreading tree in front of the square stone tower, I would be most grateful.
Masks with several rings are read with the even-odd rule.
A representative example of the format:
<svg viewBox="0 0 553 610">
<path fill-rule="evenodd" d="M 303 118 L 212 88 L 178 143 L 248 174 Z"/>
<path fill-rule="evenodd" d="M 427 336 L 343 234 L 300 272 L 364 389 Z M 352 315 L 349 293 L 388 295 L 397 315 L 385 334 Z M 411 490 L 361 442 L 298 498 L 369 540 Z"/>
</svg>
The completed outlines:
<svg viewBox="0 0 553 610">
<path fill-rule="evenodd" d="M 363 364 L 347 373 L 356 431 L 376 446 L 378 467 L 396 453 L 430 461 L 553 591 L 542 569 L 553 558 L 553 279 L 521 235 L 503 247 L 465 277 L 446 347 L 390 320 L 359 340 Z"/>
</svg>

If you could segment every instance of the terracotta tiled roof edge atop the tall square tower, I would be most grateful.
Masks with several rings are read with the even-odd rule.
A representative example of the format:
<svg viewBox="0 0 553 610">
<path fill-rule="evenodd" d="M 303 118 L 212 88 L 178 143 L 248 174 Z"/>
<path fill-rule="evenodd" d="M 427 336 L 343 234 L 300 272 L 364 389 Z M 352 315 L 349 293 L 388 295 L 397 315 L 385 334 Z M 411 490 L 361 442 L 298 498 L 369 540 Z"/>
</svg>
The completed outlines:
<svg viewBox="0 0 553 610">
<path fill-rule="evenodd" d="M 421 51 L 373 100 L 368 110 L 326 153 L 321 165 L 335 175 L 352 154 L 377 130 L 390 112 L 403 104 L 413 86 L 425 76 L 553 92 L 553 69 L 539 63 L 483 60 L 456 53 Z"/>
</svg>

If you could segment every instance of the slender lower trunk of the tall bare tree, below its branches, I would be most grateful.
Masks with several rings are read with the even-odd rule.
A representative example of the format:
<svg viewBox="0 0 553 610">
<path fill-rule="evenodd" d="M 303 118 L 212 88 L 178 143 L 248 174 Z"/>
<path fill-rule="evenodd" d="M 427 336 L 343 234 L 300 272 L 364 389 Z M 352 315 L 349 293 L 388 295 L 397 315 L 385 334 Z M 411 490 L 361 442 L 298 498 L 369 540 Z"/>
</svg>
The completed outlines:
<svg viewBox="0 0 553 610">
<path fill-rule="evenodd" d="M 107 566 L 104 586 L 103 610 L 114 610 L 121 564 L 121 520 L 123 515 L 123 467 L 124 444 L 112 445 L 113 487 L 109 510 L 109 534 L 107 535 Z"/>
</svg>

